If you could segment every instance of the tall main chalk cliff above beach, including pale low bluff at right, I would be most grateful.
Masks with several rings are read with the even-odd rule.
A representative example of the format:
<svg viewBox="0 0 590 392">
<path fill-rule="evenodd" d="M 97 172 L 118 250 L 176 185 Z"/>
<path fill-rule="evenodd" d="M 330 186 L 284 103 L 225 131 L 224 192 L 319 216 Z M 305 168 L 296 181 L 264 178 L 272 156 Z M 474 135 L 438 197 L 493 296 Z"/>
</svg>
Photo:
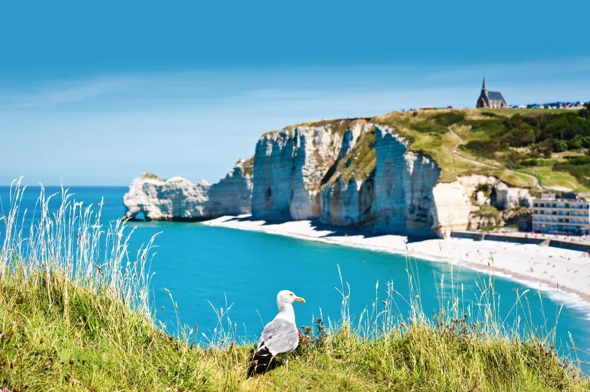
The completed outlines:
<svg viewBox="0 0 590 392">
<path fill-rule="evenodd" d="M 494 177 L 439 182 L 437 163 L 407 146 L 394 128 L 362 119 L 264 135 L 254 155 L 252 214 L 432 237 L 468 228 L 475 200 L 498 210 L 530 204 L 528 189 Z"/>
</svg>

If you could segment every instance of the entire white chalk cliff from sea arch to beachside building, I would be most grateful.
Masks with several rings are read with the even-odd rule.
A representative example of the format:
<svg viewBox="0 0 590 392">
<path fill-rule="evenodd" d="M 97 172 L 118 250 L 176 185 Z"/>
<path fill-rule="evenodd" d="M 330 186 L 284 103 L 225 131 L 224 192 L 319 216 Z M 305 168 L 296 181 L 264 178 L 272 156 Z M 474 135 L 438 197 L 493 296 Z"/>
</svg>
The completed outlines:
<svg viewBox="0 0 590 392">
<path fill-rule="evenodd" d="M 262 135 L 254 157 L 237 162 L 217 184 L 153 175 L 133 180 L 126 216 L 200 220 L 251 213 L 441 237 L 503 223 L 516 212 L 500 212 L 530 207 L 529 189 L 495 177 L 441 182 L 437 162 L 409 145 L 396 128 L 367 119 L 287 127 Z"/>
</svg>

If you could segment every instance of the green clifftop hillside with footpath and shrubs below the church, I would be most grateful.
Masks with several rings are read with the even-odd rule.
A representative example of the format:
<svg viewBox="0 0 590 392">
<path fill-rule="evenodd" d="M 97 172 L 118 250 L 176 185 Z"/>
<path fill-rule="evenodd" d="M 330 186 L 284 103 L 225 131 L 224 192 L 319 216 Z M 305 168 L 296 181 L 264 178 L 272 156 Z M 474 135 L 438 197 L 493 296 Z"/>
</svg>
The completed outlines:
<svg viewBox="0 0 590 392">
<path fill-rule="evenodd" d="M 343 135 L 357 121 L 395 128 L 410 141 L 412 150 L 435 159 L 445 182 L 476 173 L 496 176 L 519 187 L 590 191 L 590 160 L 584 157 L 590 148 L 588 109 L 391 112 L 370 119 L 322 120 L 285 129 L 328 126 L 333 133 Z M 339 162 L 344 178 L 357 178 L 351 176 L 353 170 L 363 177 L 374 167 L 364 147 L 349 153 L 347 162 Z M 355 162 L 359 157 L 363 162 Z"/>
</svg>

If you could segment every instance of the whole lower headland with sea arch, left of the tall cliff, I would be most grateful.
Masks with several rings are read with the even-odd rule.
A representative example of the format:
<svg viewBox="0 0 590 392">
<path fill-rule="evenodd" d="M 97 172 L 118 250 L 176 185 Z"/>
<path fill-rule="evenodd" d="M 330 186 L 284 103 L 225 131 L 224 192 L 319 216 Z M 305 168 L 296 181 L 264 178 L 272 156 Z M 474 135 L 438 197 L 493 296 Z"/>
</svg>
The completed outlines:
<svg viewBox="0 0 590 392">
<path fill-rule="evenodd" d="M 226 178 L 214 185 L 205 180 L 193 184 L 182 177 L 162 180 L 144 173 L 131 182 L 123 198 L 125 216 L 146 221 L 201 221 L 249 214 L 252 162 L 252 158 L 240 160 Z"/>
</svg>

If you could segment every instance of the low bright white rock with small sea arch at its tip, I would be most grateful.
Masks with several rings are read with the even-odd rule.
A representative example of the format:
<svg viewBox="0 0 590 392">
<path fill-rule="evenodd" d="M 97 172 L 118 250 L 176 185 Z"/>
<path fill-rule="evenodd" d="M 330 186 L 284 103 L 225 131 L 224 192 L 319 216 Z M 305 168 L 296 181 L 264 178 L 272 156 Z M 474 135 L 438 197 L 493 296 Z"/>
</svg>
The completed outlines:
<svg viewBox="0 0 590 392">
<path fill-rule="evenodd" d="M 193 184 L 186 178 L 162 180 L 144 173 L 131 182 L 123 197 L 126 217 L 144 214 L 146 221 L 199 221 L 208 218 L 209 184 L 205 180 Z"/>
</svg>

